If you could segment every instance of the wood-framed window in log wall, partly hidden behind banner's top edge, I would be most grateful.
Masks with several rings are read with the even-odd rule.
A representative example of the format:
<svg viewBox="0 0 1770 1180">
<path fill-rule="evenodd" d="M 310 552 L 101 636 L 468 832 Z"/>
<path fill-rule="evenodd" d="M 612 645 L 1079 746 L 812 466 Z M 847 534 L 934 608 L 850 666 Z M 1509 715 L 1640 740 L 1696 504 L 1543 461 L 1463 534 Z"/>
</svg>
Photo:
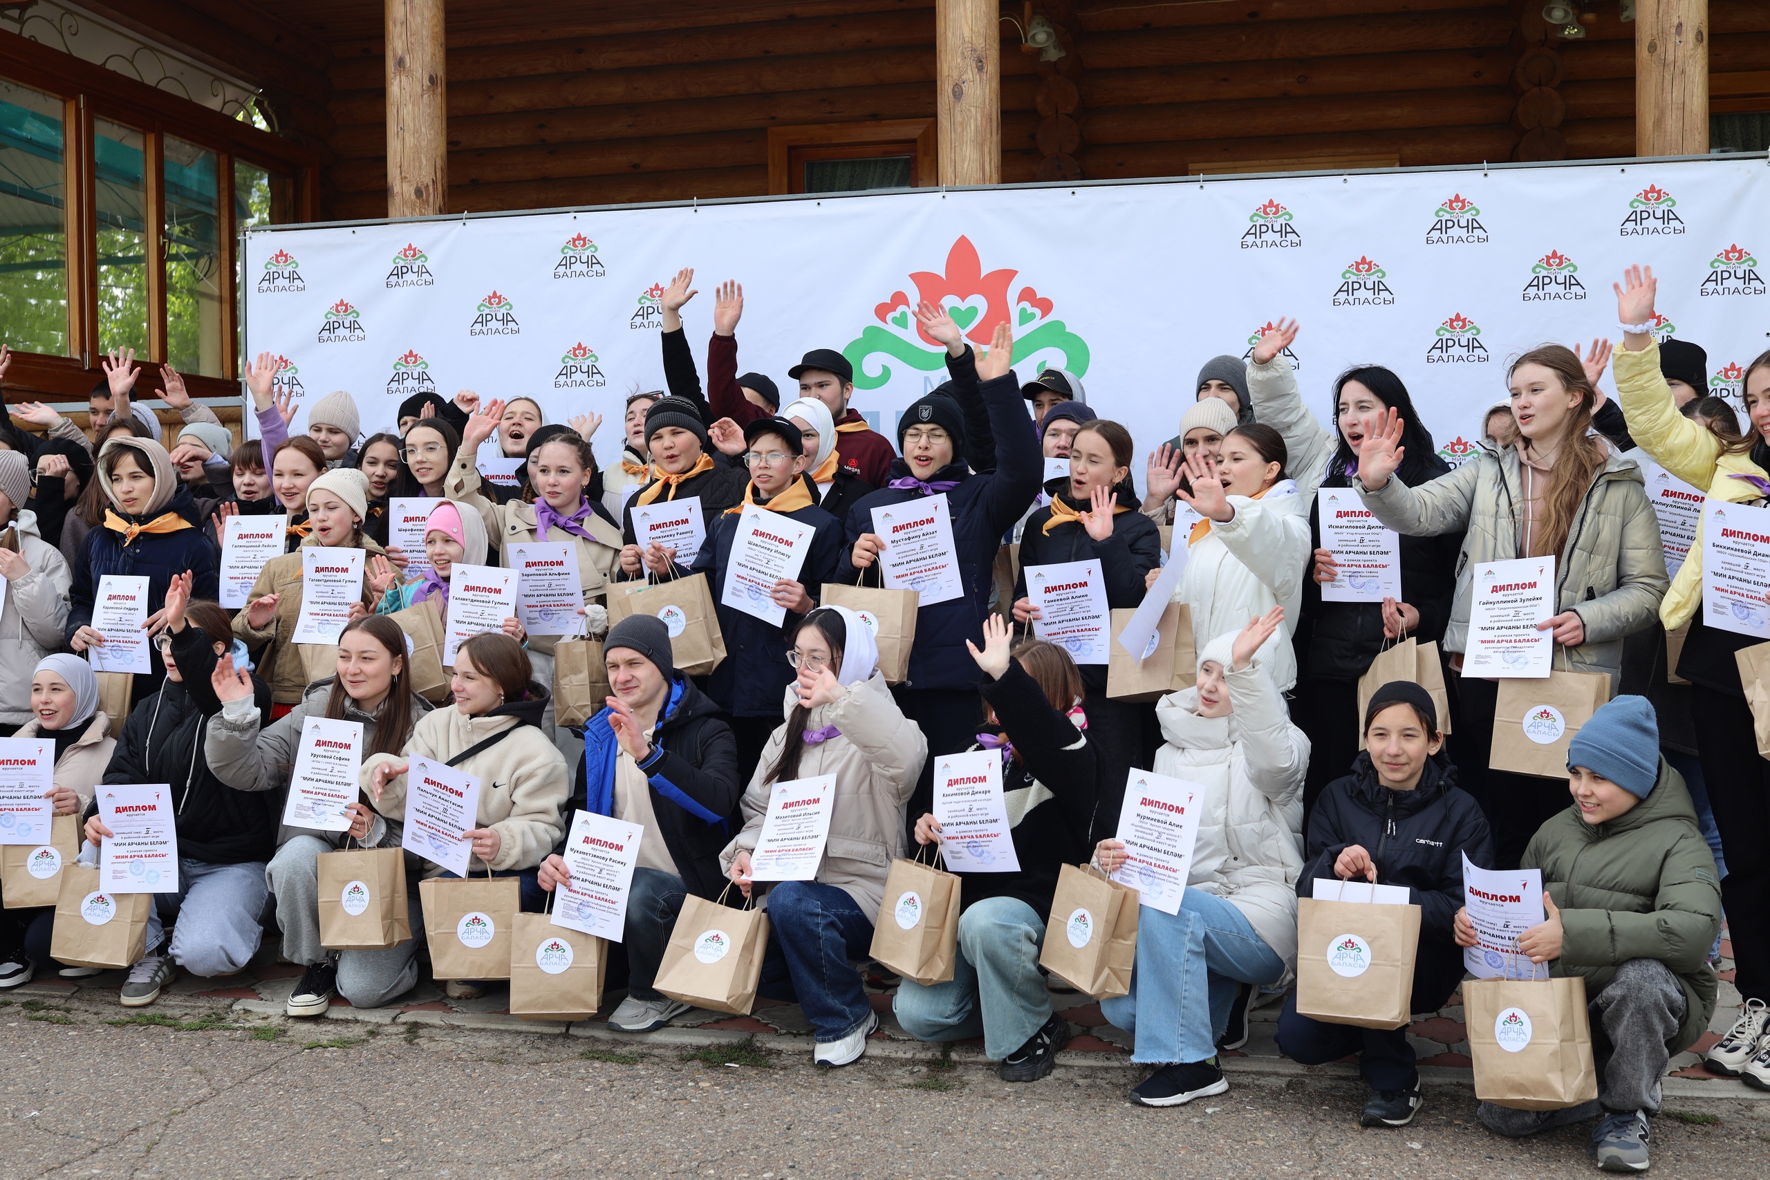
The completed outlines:
<svg viewBox="0 0 1770 1180">
<path fill-rule="evenodd" d="M 768 129 L 770 193 L 862 193 L 935 184 L 935 120 Z"/>
</svg>

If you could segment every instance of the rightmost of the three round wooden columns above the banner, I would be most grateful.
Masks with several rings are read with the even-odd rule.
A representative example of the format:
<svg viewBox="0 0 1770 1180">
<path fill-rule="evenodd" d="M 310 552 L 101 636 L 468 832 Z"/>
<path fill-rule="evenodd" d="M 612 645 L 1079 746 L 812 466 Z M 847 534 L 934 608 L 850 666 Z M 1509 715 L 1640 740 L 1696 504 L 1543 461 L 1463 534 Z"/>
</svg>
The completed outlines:
<svg viewBox="0 0 1770 1180">
<path fill-rule="evenodd" d="M 1635 154 L 1708 152 L 1708 0 L 1635 4 Z"/>
</svg>

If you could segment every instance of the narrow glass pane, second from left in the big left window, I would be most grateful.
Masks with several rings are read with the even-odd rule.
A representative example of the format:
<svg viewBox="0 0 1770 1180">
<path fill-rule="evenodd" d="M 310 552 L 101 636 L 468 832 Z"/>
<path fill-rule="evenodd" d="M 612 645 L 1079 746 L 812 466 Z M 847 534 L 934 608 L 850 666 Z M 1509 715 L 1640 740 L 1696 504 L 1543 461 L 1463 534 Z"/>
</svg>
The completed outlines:
<svg viewBox="0 0 1770 1180">
<path fill-rule="evenodd" d="M 99 350 L 147 352 L 145 147 L 140 131 L 96 120 Z"/>
</svg>

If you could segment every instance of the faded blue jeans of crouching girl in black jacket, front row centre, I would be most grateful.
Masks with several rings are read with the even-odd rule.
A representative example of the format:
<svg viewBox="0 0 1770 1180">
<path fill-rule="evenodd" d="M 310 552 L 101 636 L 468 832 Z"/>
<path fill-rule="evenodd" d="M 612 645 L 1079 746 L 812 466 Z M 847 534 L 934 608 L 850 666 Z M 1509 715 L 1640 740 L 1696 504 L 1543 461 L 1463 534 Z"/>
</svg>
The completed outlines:
<svg viewBox="0 0 1770 1180">
<path fill-rule="evenodd" d="M 982 1035 L 991 1061 L 1007 1058 L 1051 1019 L 1039 975 L 1044 922 L 1018 897 L 986 897 L 959 915 L 959 946 L 945 984 L 897 985 L 892 1010 L 917 1040 Z"/>
</svg>

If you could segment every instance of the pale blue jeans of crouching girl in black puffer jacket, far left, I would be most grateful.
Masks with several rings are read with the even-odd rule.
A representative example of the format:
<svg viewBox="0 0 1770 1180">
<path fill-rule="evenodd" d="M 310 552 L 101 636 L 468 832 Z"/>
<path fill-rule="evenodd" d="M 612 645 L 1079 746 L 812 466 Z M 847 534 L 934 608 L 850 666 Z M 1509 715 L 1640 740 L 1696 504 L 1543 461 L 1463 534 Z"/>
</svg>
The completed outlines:
<svg viewBox="0 0 1770 1180">
<path fill-rule="evenodd" d="M 161 954 L 165 922 L 172 920 L 172 945 L 163 954 L 202 978 L 232 975 L 258 954 L 269 895 L 262 860 L 205 865 L 181 856 L 179 892 L 154 893 L 147 911 L 147 954 Z"/>
</svg>

